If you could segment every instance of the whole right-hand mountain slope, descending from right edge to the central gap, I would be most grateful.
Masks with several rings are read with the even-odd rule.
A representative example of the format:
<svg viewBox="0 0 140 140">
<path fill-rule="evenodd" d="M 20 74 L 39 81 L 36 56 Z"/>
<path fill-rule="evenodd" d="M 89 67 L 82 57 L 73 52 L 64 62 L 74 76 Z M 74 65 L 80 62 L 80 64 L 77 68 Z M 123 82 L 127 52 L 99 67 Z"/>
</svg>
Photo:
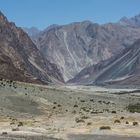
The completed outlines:
<svg viewBox="0 0 140 140">
<path fill-rule="evenodd" d="M 69 82 L 92 85 L 139 85 L 140 39 L 120 54 L 85 68 Z"/>
</svg>

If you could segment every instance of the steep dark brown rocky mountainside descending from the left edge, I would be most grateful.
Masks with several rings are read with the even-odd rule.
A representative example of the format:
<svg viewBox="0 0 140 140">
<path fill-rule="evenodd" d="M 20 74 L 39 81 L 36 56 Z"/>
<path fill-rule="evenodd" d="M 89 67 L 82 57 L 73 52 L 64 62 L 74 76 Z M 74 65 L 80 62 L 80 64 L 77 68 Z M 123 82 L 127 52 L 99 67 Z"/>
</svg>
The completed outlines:
<svg viewBox="0 0 140 140">
<path fill-rule="evenodd" d="M 63 81 L 29 36 L 0 12 L 0 78 L 26 82 Z"/>
</svg>

